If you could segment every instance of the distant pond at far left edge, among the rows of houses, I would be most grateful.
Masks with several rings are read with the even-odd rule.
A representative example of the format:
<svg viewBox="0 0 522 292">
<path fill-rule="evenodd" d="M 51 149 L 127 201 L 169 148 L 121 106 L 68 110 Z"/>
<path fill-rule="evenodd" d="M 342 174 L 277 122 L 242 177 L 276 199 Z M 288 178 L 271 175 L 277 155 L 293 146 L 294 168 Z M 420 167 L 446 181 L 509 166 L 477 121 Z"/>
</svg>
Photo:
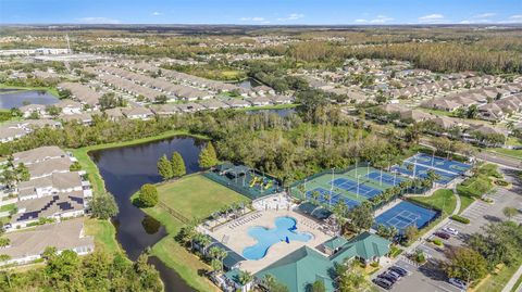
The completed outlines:
<svg viewBox="0 0 522 292">
<path fill-rule="evenodd" d="M 21 107 L 25 104 L 54 104 L 57 102 L 59 102 L 57 97 L 44 90 L 18 90 L 0 94 L 0 109 Z"/>
</svg>

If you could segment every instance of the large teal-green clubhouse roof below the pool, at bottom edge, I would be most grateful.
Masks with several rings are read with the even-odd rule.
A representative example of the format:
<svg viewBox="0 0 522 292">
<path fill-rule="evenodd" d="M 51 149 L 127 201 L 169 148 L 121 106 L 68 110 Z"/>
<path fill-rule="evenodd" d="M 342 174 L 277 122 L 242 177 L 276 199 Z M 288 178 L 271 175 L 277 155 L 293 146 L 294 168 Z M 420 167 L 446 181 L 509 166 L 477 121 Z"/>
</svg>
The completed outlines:
<svg viewBox="0 0 522 292">
<path fill-rule="evenodd" d="M 322 280 L 326 291 L 335 291 L 334 266 L 327 257 L 311 247 L 302 246 L 256 274 L 258 279 L 274 276 L 291 292 L 309 291 L 316 280 Z"/>
</svg>

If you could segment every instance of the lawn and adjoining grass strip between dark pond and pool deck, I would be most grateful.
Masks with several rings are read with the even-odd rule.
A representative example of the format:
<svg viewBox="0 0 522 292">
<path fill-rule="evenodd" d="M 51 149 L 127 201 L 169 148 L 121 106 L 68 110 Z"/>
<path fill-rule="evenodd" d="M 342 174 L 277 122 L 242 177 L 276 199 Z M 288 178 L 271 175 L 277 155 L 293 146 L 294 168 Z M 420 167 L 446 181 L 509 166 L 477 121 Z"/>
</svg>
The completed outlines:
<svg viewBox="0 0 522 292">
<path fill-rule="evenodd" d="M 187 218 L 204 218 L 234 202 L 249 201 L 241 194 L 199 174 L 161 183 L 158 186 L 158 192 L 161 202 Z M 133 195 L 132 199 L 135 199 L 136 195 Z M 210 267 L 174 240 L 184 224 L 159 205 L 144 208 L 144 211 L 165 226 L 169 232 L 169 236 L 152 246 L 151 254 L 176 270 L 190 287 L 199 291 L 220 291 L 207 278 L 198 274 L 200 270 L 209 270 Z"/>
</svg>

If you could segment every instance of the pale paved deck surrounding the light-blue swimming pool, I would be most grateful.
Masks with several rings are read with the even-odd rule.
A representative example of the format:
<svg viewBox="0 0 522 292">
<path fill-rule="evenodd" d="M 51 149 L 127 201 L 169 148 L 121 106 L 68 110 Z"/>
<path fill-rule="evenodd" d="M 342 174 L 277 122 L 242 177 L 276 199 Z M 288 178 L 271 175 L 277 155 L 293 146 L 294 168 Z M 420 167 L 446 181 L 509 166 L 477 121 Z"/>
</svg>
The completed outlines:
<svg viewBox="0 0 522 292">
<path fill-rule="evenodd" d="M 256 215 L 260 214 L 260 215 Z M 209 231 L 209 234 L 214 239 L 222 241 L 223 238 L 228 237 L 226 242 L 223 242 L 234 252 L 243 255 L 243 250 L 247 246 L 254 245 L 257 241 L 248 234 L 248 228 L 252 226 L 262 226 L 265 228 L 275 228 L 275 218 L 281 216 L 293 217 L 297 221 L 297 231 L 298 232 L 309 232 L 313 234 L 313 239 L 308 242 L 302 241 L 290 241 L 290 243 L 278 242 L 272 245 L 266 255 L 259 261 L 245 261 L 241 263 L 241 269 L 248 270 L 252 274 L 260 271 L 261 269 L 268 267 L 272 263 L 281 259 L 287 254 L 298 250 L 303 245 L 316 249 L 323 242 L 330 240 L 332 237 L 319 230 L 319 224 L 314 220 L 304 217 L 303 215 L 296 213 L 294 211 L 286 210 L 268 210 L 259 211 L 254 214 L 248 214 L 239 219 L 231 221 L 226 225 L 216 228 L 214 231 Z M 245 221 L 248 219 L 247 221 Z M 231 228 L 229 226 L 234 223 L 241 221 L 245 223 Z"/>
</svg>

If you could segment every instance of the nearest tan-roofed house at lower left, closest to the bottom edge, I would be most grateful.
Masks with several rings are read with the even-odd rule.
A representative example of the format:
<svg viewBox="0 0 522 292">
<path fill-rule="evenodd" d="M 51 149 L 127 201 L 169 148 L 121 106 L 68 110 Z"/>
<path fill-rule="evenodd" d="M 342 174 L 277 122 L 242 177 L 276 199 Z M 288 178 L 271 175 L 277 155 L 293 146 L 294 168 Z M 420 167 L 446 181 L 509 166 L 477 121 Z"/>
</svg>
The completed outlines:
<svg viewBox="0 0 522 292">
<path fill-rule="evenodd" d="M 41 257 L 47 247 L 55 247 L 60 253 L 71 250 L 78 255 L 89 254 L 95 250 L 92 237 L 86 237 L 82 218 L 62 223 L 38 226 L 34 229 L 9 232 L 4 236 L 10 244 L 1 249 L 1 253 L 10 259 L 1 262 L 0 266 L 9 264 L 28 264 Z"/>
</svg>

